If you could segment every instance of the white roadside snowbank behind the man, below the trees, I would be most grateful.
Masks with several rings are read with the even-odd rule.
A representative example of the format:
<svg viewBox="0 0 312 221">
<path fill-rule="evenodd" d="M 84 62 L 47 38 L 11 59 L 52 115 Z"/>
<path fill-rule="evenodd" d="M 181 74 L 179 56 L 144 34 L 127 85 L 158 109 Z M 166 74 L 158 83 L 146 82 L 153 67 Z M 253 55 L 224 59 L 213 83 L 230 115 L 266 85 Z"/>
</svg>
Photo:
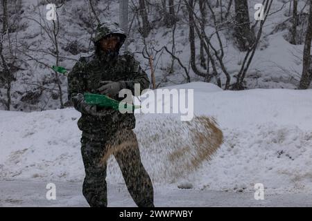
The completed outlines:
<svg viewBox="0 0 312 221">
<path fill-rule="evenodd" d="M 253 198 L 257 183 L 264 185 L 265 194 L 312 194 L 312 90 L 224 91 L 200 82 L 174 88 L 194 88 L 195 114 L 214 117 L 223 131 L 224 143 L 212 160 L 172 179 L 164 171 L 168 170 L 166 149 L 171 146 L 144 140 L 148 139 L 146 131 L 164 133 L 171 126 L 168 117 L 138 114 L 135 132 L 140 144 L 144 144 L 140 145 L 141 157 L 154 181 L 155 194 L 162 193 L 166 198 L 165 193 L 177 191 L 177 185 L 183 182 L 193 184 L 187 192 L 190 195 L 198 191 L 243 192 Z M 79 117 L 73 108 L 32 113 L 0 111 L 0 180 L 80 184 L 84 169 L 81 132 L 76 126 Z M 157 129 L 156 122 L 164 126 Z M 123 184 L 113 157 L 107 182 L 115 189 Z M 22 198 L 23 189 L 17 191 Z M 10 199 L 9 194 L 6 199 Z M 1 195 L 6 192 L 1 191 Z M 215 196 L 218 198 L 218 194 Z M 202 197 L 209 201 L 209 194 Z M 179 205 L 183 206 L 183 202 Z"/>
</svg>

